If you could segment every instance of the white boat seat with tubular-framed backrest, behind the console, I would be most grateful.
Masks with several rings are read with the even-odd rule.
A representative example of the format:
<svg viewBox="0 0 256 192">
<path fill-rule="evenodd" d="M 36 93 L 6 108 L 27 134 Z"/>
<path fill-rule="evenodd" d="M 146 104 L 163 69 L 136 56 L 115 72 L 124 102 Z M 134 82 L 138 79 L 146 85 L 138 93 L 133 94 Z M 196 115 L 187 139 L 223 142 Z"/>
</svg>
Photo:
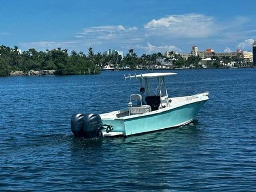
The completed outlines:
<svg viewBox="0 0 256 192">
<path fill-rule="evenodd" d="M 151 107 L 149 105 L 142 104 L 142 97 L 139 94 L 132 94 L 130 96 L 130 103 L 128 103 L 128 107 L 129 115 L 151 112 Z"/>
</svg>

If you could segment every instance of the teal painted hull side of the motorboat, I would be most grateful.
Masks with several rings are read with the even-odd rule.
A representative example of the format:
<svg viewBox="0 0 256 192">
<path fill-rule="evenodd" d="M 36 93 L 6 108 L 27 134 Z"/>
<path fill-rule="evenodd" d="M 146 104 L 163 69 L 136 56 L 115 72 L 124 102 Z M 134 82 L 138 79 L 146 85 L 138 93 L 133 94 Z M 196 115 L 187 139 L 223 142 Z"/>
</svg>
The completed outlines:
<svg viewBox="0 0 256 192">
<path fill-rule="evenodd" d="M 123 136 L 153 132 L 173 128 L 193 121 L 207 100 L 188 103 L 177 108 L 165 108 L 146 115 L 133 115 L 119 119 L 104 119 L 103 124 L 111 125 L 112 132 L 121 132 Z"/>
</svg>

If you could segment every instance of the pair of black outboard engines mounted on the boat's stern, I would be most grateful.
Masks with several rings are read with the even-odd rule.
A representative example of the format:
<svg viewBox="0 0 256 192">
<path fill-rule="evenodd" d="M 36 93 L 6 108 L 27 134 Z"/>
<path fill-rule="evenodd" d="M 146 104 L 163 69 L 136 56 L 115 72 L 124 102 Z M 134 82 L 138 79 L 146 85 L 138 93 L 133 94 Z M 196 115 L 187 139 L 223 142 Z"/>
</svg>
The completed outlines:
<svg viewBox="0 0 256 192">
<path fill-rule="evenodd" d="M 101 137 L 101 129 L 103 129 L 103 123 L 99 115 L 78 113 L 71 117 L 71 130 L 76 137 Z"/>
</svg>

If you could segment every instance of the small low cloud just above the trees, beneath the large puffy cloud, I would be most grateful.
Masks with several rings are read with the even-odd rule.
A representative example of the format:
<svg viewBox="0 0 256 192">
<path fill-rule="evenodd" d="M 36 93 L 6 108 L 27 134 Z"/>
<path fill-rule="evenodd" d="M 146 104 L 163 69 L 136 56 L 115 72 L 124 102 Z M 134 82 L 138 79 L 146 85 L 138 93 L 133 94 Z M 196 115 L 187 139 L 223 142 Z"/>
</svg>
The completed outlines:
<svg viewBox="0 0 256 192">
<path fill-rule="evenodd" d="M 180 48 L 176 46 L 154 46 L 151 43 L 147 42 L 147 46 L 137 46 L 136 48 L 140 48 L 145 51 L 146 54 L 152 54 L 156 52 L 166 52 L 166 51 L 177 51 L 181 52 Z"/>
</svg>

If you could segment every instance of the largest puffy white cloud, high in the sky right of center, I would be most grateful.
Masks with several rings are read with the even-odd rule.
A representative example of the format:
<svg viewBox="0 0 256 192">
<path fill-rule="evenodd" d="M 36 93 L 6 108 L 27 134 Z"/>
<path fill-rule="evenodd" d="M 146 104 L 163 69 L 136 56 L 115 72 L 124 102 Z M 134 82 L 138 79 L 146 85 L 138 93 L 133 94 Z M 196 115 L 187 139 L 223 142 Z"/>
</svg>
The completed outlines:
<svg viewBox="0 0 256 192">
<path fill-rule="evenodd" d="M 213 17 L 202 14 L 170 15 L 153 19 L 144 26 L 148 34 L 170 35 L 181 38 L 204 38 L 219 30 Z"/>
</svg>

